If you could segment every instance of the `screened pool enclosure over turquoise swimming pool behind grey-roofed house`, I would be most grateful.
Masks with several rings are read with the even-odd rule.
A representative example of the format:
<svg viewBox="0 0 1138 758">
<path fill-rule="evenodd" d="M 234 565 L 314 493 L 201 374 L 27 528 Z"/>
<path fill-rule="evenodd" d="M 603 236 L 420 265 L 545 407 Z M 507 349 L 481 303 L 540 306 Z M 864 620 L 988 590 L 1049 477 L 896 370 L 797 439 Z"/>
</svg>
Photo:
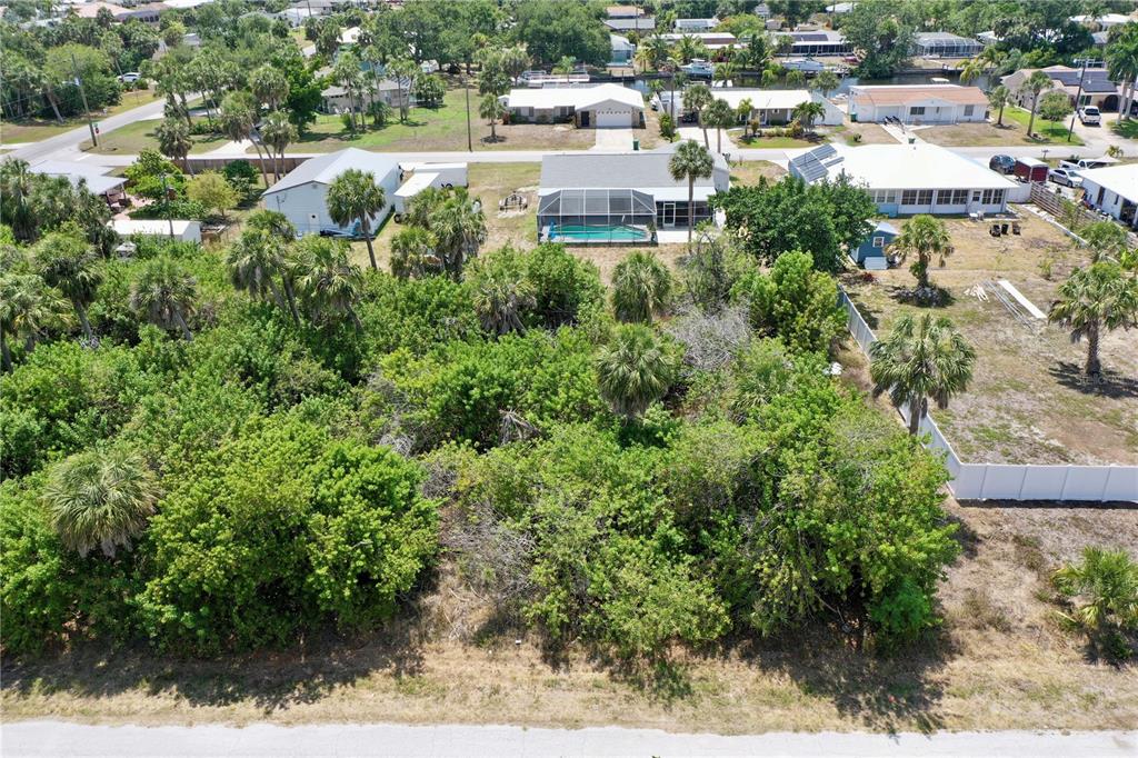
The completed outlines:
<svg viewBox="0 0 1138 758">
<path fill-rule="evenodd" d="M 655 201 L 632 189 L 563 189 L 541 198 L 539 241 L 588 245 L 652 239 Z"/>
</svg>

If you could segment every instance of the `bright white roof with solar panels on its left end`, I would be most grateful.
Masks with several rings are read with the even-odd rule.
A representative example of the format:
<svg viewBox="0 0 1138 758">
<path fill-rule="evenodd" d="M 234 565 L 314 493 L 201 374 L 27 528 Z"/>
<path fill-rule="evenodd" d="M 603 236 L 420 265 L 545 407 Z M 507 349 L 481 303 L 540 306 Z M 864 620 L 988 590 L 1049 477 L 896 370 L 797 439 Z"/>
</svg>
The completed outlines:
<svg viewBox="0 0 1138 758">
<path fill-rule="evenodd" d="M 846 174 L 871 189 L 1013 189 L 1017 184 L 987 166 L 937 145 L 824 146 L 830 179 Z M 820 148 L 815 148 L 819 150 Z M 828 150 L 824 150 L 828 154 Z M 805 153 L 810 153 L 807 150 Z M 835 155 L 834 155 L 835 154 Z M 797 157 L 797 156 L 795 156 Z"/>
</svg>

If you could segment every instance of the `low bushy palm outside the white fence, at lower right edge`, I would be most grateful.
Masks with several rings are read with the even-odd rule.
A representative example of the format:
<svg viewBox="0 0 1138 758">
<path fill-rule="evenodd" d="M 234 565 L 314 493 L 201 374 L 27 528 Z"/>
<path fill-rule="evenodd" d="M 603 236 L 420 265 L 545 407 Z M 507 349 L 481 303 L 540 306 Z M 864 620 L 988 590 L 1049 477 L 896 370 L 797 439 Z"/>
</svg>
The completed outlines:
<svg viewBox="0 0 1138 758">
<path fill-rule="evenodd" d="M 1091 634 L 1105 631 L 1119 642 L 1118 629 L 1138 627 L 1138 562 L 1127 551 L 1086 547 L 1082 560 L 1055 571 L 1053 582 L 1059 594 L 1086 600 L 1064 615 L 1072 625 Z"/>
</svg>

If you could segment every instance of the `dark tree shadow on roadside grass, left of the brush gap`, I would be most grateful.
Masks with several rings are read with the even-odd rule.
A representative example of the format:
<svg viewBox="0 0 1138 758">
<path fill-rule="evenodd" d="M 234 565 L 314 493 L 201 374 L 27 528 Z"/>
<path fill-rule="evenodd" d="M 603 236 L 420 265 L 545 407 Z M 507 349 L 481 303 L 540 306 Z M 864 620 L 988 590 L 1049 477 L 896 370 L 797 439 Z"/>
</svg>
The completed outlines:
<svg viewBox="0 0 1138 758">
<path fill-rule="evenodd" d="M 82 643 L 73 650 L 28 660 L 5 658 L 2 689 L 20 695 L 67 692 L 110 698 L 138 692 L 173 695 L 196 707 L 254 703 L 265 716 L 312 703 L 374 672 L 396 679 L 423 667 L 418 613 L 358 636 L 324 632 L 294 648 L 216 658 L 162 653 L 139 643 L 109 649 Z"/>
</svg>

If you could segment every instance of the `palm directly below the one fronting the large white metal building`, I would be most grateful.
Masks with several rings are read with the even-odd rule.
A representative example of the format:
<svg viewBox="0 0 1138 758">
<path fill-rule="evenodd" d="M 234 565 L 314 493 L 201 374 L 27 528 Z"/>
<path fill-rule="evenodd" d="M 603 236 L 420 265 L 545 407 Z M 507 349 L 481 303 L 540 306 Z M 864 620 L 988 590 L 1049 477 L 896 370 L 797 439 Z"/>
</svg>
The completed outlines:
<svg viewBox="0 0 1138 758">
<path fill-rule="evenodd" d="M 297 279 L 300 296 L 308 306 L 313 320 L 327 320 L 330 315 L 347 315 L 356 331 L 363 323 L 355 312 L 360 299 L 363 275 L 360 266 L 348 261 L 348 246 L 343 240 L 310 236 L 298 245 Z"/>
</svg>

